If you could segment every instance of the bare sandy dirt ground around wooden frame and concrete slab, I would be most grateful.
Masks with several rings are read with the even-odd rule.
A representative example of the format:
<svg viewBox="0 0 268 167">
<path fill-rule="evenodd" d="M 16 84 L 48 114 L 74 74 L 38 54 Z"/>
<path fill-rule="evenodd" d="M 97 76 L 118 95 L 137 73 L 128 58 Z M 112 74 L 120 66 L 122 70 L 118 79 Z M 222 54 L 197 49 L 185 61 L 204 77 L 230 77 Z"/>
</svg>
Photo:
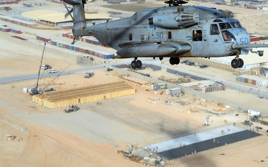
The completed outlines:
<svg viewBox="0 0 268 167">
<path fill-rule="evenodd" d="M 119 78 L 108 74 L 105 69 L 95 70 L 94 77 L 84 78 L 84 71 L 59 76 L 65 82 L 63 88 L 73 87 L 73 80 L 78 84 L 98 84 L 107 81 L 117 81 Z M 107 75 L 106 75 L 107 74 Z M 142 166 L 140 163 L 123 158 L 117 150 L 126 150 L 128 144 L 139 142 L 139 146 L 166 141 L 173 138 L 201 132 L 217 127 L 244 121 L 245 113 L 227 113 L 219 117 L 211 117 L 211 125 L 204 127 L 207 113 L 204 109 L 213 110 L 217 106 L 207 102 L 208 107 L 200 106 L 198 99 L 189 96 L 188 105 L 176 103 L 170 106 L 165 103 L 169 95 L 156 95 L 153 91 L 146 91 L 136 83 L 136 94 L 109 99 L 101 105 L 88 103 L 80 105 L 81 110 L 65 114 L 63 108 L 48 109 L 32 103 L 32 97 L 23 93 L 23 87 L 34 85 L 34 80 L 21 81 L 0 85 L 0 104 L 3 106 L 0 117 L 0 165 L 1 166 Z M 56 89 L 60 89 L 55 86 Z M 147 97 L 156 99 L 157 103 L 147 102 Z M 16 99 L 16 103 L 14 100 Z M 191 100 L 192 99 L 192 100 Z M 194 101 L 196 100 L 196 101 Z M 190 103 L 189 103 L 190 102 Z M 111 107 L 113 106 L 113 107 Z M 200 112 L 184 114 L 181 110 L 189 110 L 197 106 Z M 260 123 L 256 123 L 259 125 Z M 241 125 L 240 125 L 241 126 Z M 27 128 L 22 132 L 20 128 Z M 155 129 L 155 130 L 153 130 Z M 157 133 L 155 133 L 157 129 Z M 266 135 L 267 127 L 261 130 Z M 6 141 L 5 136 L 11 134 L 22 138 L 20 142 Z M 168 166 L 229 166 L 232 162 L 245 164 L 267 165 L 265 156 L 267 136 L 241 141 L 221 148 L 198 153 L 196 156 L 177 159 L 177 163 L 168 161 Z M 257 144 L 258 143 L 258 144 Z M 247 147 L 245 147 L 247 145 Z M 255 148 L 255 149 L 253 149 Z M 248 154 L 248 151 L 251 153 Z M 262 152 L 262 153 L 259 153 Z M 222 155 L 224 154 L 224 155 Z M 256 156 L 252 156 L 256 155 Z M 264 162 L 261 162 L 264 160 Z"/>
</svg>

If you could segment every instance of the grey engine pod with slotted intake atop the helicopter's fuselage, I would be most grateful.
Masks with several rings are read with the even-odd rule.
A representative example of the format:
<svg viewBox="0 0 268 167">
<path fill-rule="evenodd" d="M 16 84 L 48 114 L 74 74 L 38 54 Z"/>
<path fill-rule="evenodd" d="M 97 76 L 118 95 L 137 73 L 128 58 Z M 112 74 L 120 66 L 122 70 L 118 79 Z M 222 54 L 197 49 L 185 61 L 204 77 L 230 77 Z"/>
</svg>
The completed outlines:
<svg viewBox="0 0 268 167">
<path fill-rule="evenodd" d="M 199 14 L 197 12 L 182 12 L 179 14 L 156 15 L 148 19 L 149 24 L 170 28 L 183 29 L 195 25 L 199 22 Z"/>
</svg>

